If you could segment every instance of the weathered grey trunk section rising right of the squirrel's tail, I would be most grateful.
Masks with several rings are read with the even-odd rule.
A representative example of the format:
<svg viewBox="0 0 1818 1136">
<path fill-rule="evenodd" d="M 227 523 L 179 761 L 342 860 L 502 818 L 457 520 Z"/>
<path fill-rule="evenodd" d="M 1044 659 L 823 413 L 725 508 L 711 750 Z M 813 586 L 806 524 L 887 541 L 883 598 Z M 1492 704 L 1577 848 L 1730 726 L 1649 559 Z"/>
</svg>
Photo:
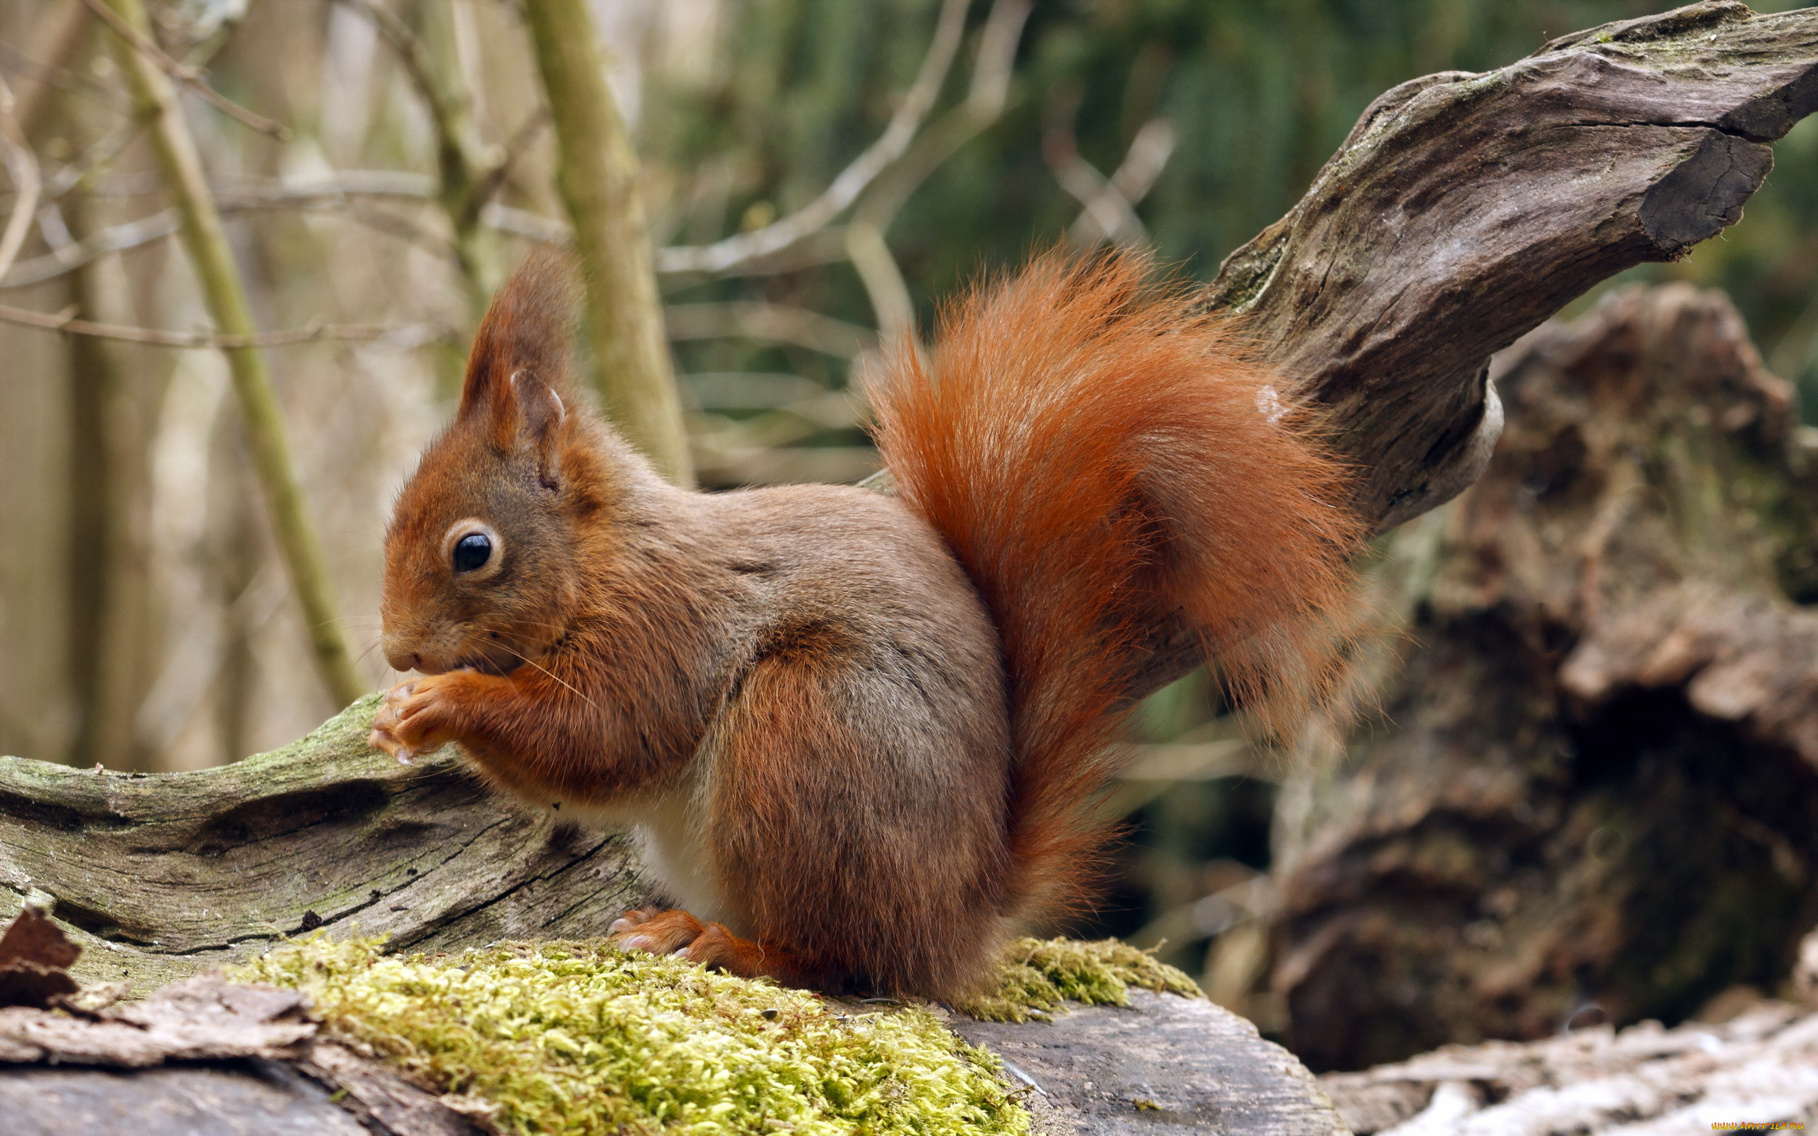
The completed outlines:
<svg viewBox="0 0 1818 1136">
<path fill-rule="evenodd" d="M 1394 87 L 1294 209 L 1225 260 L 1249 313 L 1333 409 L 1391 529 L 1476 480 L 1489 356 L 1614 273 L 1742 216 L 1765 145 L 1818 109 L 1818 11 L 1694 4 L 1553 40 L 1500 71 Z"/>
</svg>

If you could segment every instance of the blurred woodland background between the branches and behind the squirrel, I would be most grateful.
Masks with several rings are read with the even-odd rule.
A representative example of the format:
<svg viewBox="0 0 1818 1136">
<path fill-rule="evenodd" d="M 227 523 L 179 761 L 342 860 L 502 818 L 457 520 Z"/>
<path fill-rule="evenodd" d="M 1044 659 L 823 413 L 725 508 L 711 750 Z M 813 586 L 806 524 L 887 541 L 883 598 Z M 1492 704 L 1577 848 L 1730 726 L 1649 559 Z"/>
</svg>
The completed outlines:
<svg viewBox="0 0 1818 1136">
<path fill-rule="evenodd" d="M 31 142 L 58 187 L 0 300 L 204 325 L 195 280 L 167 240 L 75 273 L 22 276 L 71 242 L 165 207 L 107 53 L 84 42 L 64 60 L 31 56 L 35 29 L 55 7 L 13 0 L 0 11 L 9 82 L 55 89 Z M 449 253 L 449 218 L 435 209 L 433 124 L 360 4 L 151 7 L 167 51 L 205 60 L 218 91 L 289 127 L 280 140 L 185 104 L 260 325 L 396 329 L 365 344 L 273 353 L 351 638 L 367 649 L 364 674 L 378 687 L 393 680 L 369 651 L 384 516 L 449 413 L 476 314 Z M 707 245 L 811 204 L 885 131 L 940 7 L 594 0 L 645 164 L 653 242 Z M 1082 220 L 1080 185 L 1089 196 L 1111 178 L 1134 202 L 1134 220 L 1107 214 L 1114 236 L 1153 242 L 1182 273 L 1211 278 L 1289 209 L 1385 89 L 1434 71 L 1498 67 L 1549 36 L 1658 7 L 1042 0 L 1020 29 L 1002 113 L 885 213 L 885 245 L 925 331 L 940 298 L 982 267 L 1060 240 L 1100 240 L 1107 224 Z M 980 0 L 967 11 L 929 124 L 965 104 L 991 9 Z M 498 256 L 509 262 L 558 234 L 542 95 L 514 4 L 398 0 L 391 11 L 444 78 L 465 85 L 482 145 L 513 156 L 485 214 Z M 882 300 L 851 262 L 840 222 L 820 236 L 733 273 L 662 273 L 707 487 L 853 482 L 874 469 L 851 380 L 876 342 Z M 1807 420 L 1818 420 L 1818 122 L 1776 145 L 1776 169 L 1742 224 L 1680 264 L 1629 278 L 1727 289 L 1773 369 L 1802 387 Z M 0 494 L 0 752 L 193 769 L 287 742 L 333 711 L 304 662 L 304 627 L 245 487 L 220 360 L 20 327 L 0 327 L 0 483 L 9 487 Z M 1165 940 L 1171 962 L 1200 971 L 1207 942 L 1254 912 L 1276 771 L 1211 702 L 1204 676 L 1156 694 L 1140 729 L 1133 776 L 1107 803 L 1131 842 L 1107 865 L 1100 918 L 1082 929 L 1140 945 Z M 1216 987 L 1218 976 L 1205 982 Z"/>
</svg>

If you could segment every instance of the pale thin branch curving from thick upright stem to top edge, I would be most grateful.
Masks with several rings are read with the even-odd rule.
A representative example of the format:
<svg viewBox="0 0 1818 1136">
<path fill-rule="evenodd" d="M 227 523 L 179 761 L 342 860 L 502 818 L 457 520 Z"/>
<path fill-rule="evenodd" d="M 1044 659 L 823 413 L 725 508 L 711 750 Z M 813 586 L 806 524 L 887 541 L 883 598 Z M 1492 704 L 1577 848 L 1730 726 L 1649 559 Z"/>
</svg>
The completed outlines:
<svg viewBox="0 0 1818 1136">
<path fill-rule="evenodd" d="M 940 9 L 940 22 L 934 25 L 934 40 L 922 60 L 922 69 L 916 73 L 914 84 L 904 96 L 902 105 L 896 107 L 884 135 L 865 147 L 865 153 L 858 154 L 851 165 L 840 171 L 840 176 L 818 198 L 780 222 L 753 233 L 740 233 L 711 245 L 658 249 L 656 271 L 725 273 L 745 260 L 780 253 L 831 224 L 914 142 L 916 131 L 922 129 L 922 120 L 927 118 L 929 109 L 933 109 L 934 100 L 940 96 L 942 85 L 947 82 L 947 71 L 960 49 L 960 36 L 965 31 L 967 7 L 969 0 L 945 0 Z"/>
</svg>

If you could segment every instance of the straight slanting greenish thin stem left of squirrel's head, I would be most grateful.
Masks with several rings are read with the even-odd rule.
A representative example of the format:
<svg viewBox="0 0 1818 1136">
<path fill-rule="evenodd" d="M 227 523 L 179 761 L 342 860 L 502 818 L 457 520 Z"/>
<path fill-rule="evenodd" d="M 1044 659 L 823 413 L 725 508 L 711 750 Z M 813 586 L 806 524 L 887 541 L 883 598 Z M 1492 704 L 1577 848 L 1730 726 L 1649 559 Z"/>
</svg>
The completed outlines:
<svg viewBox="0 0 1818 1136">
<path fill-rule="evenodd" d="M 147 38 L 151 24 L 144 0 L 111 2 L 118 24 L 124 24 L 140 40 Z M 109 25 L 113 24 L 109 20 Z M 227 231 L 222 227 L 220 211 L 215 207 L 215 196 L 204 178 L 202 156 L 196 153 L 187 122 L 184 122 L 171 76 L 153 56 L 138 49 L 131 35 L 122 33 L 116 47 L 120 67 L 127 73 L 151 124 L 151 136 L 171 196 L 184 216 L 184 244 L 200 278 L 209 314 L 215 316 L 215 325 L 220 327 L 222 334 L 253 336 L 256 327 L 245 287 L 240 282 L 240 269 L 235 265 Z M 329 694 L 345 705 L 364 693 L 365 682 L 355 671 L 353 654 L 342 634 L 335 585 L 329 580 L 322 542 L 309 518 L 304 491 L 291 462 L 284 413 L 271 389 L 265 356 L 253 345 L 227 347 L 225 354 L 245 420 L 253 469 L 265 494 L 271 529 L 289 569 L 291 587 L 304 609 L 304 627 L 309 634 L 316 673 Z"/>
</svg>

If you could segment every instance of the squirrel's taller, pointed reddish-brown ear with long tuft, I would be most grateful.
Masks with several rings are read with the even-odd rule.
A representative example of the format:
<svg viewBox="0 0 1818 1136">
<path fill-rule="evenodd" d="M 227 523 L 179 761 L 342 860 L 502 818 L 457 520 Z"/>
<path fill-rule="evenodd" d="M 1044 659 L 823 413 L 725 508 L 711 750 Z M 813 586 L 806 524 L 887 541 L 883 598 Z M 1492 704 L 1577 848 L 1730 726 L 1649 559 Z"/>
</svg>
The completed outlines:
<svg viewBox="0 0 1818 1136">
<path fill-rule="evenodd" d="M 560 405 L 567 373 L 569 320 L 574 313 L 574 274 L 564 254 L 533 253 L 493 296 L 467 354 L 460 391 L 462 422 L 485 422 L 505 447 L 524 418 L 524 398 L 513 376 L 531 373 Z"/>
</svg>

